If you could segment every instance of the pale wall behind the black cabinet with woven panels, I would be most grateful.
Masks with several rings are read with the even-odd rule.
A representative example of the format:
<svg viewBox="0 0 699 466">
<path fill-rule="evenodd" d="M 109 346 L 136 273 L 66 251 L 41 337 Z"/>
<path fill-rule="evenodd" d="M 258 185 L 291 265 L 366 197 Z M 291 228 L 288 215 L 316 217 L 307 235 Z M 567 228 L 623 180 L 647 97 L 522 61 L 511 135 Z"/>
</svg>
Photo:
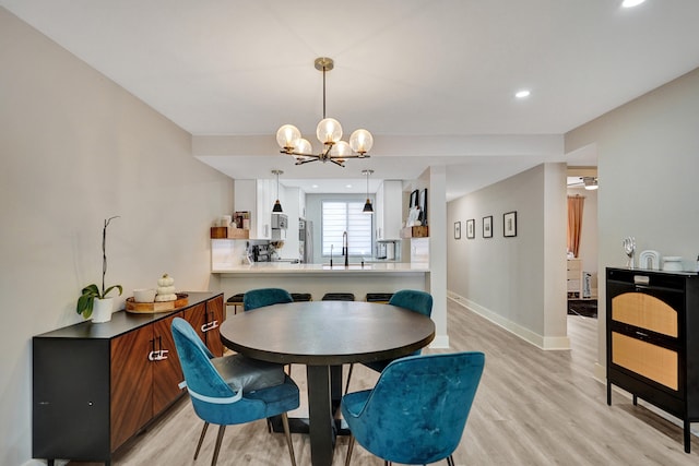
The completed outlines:
<svg viewBox="0 0 699 466">
<path fill-rule="evenodd" d="M 624 266 L 621 239 L 637 251 L 699 253 L 699 69 L 566 134 L 566 152 L 595 144 L 599 199 L 599 367 L 604 378 L 607 266 Z"/>
</svg>

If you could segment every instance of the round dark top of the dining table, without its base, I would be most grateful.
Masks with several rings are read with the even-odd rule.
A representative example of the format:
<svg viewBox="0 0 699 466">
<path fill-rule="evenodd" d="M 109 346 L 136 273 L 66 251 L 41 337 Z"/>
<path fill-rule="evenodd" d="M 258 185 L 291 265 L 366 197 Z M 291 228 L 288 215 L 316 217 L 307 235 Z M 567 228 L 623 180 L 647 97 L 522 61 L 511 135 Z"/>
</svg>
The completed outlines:
<svg viewBox="0 0 699 466">
<path fill-rule="evenodd" d="M 407 309 L 363 301 L 275 304 L 228 316 L 224 345 L 280 363 L 334 366 L 408 355 L 435 337 L 431 319 Z"/>
</svg>

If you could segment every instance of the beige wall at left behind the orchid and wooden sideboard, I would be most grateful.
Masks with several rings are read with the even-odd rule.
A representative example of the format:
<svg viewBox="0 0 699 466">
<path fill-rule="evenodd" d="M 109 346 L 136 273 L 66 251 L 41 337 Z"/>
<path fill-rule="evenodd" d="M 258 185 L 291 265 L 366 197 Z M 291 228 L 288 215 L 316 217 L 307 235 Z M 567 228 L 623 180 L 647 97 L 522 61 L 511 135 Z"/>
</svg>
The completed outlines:
<svg viewBox="0 0 699 466">
<path fill-rule="evenodd" d="M 123 299 L 164 272 L 210 283 L 211 220 L 233 182 L 191 156 L 191 136 L 0 9 L 0 464 L 31 458 L 33 335 L 81 322 L 80 289 Z"/>
</svg>

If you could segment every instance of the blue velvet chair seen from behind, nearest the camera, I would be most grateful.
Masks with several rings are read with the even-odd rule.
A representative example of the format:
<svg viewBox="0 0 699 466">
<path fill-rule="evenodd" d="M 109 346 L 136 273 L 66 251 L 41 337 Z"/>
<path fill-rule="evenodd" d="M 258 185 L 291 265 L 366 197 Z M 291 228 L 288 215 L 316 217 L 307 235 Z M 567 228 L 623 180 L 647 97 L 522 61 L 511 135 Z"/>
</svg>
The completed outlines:
<svg viewBox="0 0 699 466">
<path fill-rule="evenodd" d="M 408 356 L 391 362 L 372 390 L 342 397 L 342 416 L 355 442 L 391 462 L 424 465 L 447 459 L 454 466 L 485 355 L 477 351 Z"/>
</svg>

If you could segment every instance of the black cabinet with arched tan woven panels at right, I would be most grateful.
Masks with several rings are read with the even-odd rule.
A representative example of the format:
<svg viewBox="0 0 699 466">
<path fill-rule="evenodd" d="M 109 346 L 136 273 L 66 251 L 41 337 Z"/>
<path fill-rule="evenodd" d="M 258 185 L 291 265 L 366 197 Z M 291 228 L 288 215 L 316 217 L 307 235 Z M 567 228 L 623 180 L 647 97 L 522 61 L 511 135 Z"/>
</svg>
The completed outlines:
<svg viewBox="0 0 699 466">
<path fill-rule="evenodd" d="M 699 421 L 699 275 L 606 270 L 607 405 L 612 385 L 679 418 L 685 452 Z"/>
</svg>

